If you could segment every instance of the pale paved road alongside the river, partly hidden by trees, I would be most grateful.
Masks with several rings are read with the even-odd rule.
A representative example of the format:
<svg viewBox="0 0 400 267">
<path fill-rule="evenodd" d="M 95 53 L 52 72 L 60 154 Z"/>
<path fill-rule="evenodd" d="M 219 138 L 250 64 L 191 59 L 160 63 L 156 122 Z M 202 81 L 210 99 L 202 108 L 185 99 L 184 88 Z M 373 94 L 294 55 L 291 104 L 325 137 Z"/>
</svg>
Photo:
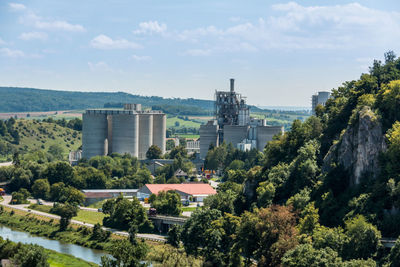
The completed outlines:
<svg viewBox="0 0 400 267">
<path fill-rule="evenodd" d="M 23 204 L 23 205 L 10 205 L 10 201 L 11 201 L 11 196 L 10 195 L 6 195 L 3 196 L 4 201 L 0 202 L 0 205 L 12 208 L 12 209 L 17 209 L 17 210 L 22 210 L 25 212 L 30 212 L 30 213 L 34 213 L 34 214 L 38 214 L 44 217 L 48 217 L 51 219 L 60 219 L 60 216 L 58 215 L 54 215 L 54 214 L 50 214 L 50 213 L 46 213 L 46 212 L 42 212 L 42 211 L 38 211 L 38 210 L 30 210 L 28 209 L 28 204 Z M 34 201 L 33 203 L 36 203 L 36 201 Z M 49 202 L 47 202 L 49 203 Z M 88 209 L 88 208 L 84 208 L 84 209 Z M 94 209 L 97 212 L 97 209 Z M 77 220 L 71 220 L 71 223 L 73 224 L 77 224 L 77 225 L 84 225 L 87 227 L 91 227 L 93 228 L 93 224 L 90 223 L 85 223 L 85 222 L 81 222 L 81 221 L 77 221 Z M 116 229 L 112 229 L 112 228 L 108 228 L 108 227 L 102 227 L 104 230 L 110 231 L 116 235 L 120 235 L 120 236 L 129 236 L 129 234 L 127 232 L 124 231 L 119 231 Z M 152 240 L 152 241 L 157 241 L 157 242 L 164 242 L 165 241 L 165 237 L 162 235 L 155 235 L 155 234 L 137 234 L 137 237 L 139 238 L 144 238 L 147 240 Z"/>
</svg>

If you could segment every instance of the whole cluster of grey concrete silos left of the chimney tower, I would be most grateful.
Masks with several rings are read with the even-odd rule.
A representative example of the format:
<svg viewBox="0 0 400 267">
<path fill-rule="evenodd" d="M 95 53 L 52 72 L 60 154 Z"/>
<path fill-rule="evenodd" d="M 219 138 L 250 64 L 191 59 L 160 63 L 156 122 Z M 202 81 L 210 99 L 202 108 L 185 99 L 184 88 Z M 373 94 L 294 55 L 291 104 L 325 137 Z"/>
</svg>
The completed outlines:
<svg viewBox="0 0 400 267">
<path fill-rule="evenodd" d="M 83 114 L 83 157 L 116 152 L 144 159 L 152 145 L 165 153 L 165 134 L 165 114 L 142 111 L 140 104 L 127 104 L 124 110 L 86 110 Z"/>
</svg>

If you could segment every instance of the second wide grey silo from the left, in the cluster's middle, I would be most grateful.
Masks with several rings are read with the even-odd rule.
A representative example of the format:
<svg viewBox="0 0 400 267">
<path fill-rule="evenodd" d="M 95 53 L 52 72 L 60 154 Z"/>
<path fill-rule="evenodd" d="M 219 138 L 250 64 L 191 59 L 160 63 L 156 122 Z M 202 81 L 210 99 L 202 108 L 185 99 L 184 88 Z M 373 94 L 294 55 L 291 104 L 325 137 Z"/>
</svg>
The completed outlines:
<svg viewBox="0 0 400 267">
<path fill-rule="evenodd" d="M 138 115 L 121 113 L 112 115 L 112 151 L 138 156 Z"/>
</svg>

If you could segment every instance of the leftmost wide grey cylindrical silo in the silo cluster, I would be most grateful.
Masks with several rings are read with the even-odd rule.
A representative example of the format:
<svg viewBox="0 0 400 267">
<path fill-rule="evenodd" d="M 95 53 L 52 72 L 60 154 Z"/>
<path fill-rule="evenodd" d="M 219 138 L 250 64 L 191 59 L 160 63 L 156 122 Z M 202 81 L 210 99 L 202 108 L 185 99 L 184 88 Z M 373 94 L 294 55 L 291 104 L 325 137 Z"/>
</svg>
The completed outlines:
<svg viewBox="0 0 400 267">
<path fill-rule="evenodd" d="M 97 110 L 87 110 L 83 114 L 82 156 L 90 159 L 103 155 L 107 134 L 107 114 Z"/>
</svg>

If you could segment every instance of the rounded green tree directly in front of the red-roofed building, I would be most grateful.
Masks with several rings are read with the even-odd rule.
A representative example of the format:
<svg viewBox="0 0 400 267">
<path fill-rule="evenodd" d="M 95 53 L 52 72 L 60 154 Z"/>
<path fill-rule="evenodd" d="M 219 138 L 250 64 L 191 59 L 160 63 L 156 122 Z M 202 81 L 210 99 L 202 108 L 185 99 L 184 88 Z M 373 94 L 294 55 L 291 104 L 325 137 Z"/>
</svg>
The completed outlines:
<svg viewBox="0 0 400 267">
<path fill-rule="evenodd" d="M 182 213 L 181 196 L 174 190 L 160 191 L 149 200 L 151 207 L 159 214 L 179 216 Z"/>
</svg>

